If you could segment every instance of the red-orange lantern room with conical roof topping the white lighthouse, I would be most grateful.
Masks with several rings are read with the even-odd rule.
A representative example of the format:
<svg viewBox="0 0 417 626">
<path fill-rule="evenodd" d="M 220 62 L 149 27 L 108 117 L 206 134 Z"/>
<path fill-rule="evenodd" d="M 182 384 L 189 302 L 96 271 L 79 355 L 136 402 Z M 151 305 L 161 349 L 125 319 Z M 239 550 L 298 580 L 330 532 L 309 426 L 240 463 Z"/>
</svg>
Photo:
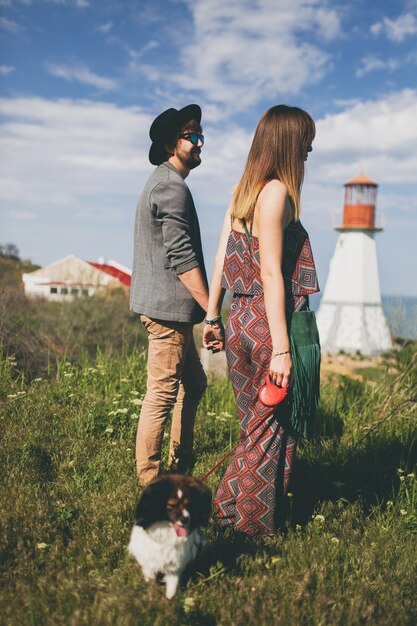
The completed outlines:
<svg viewBox="0 0 417 626">
<path fill-rule="evenodd" d="M 381 230 L 375 227 L 377 187 L 363 172 L 345 183 L 343 224 L 337 230 Z"/>
</svg>

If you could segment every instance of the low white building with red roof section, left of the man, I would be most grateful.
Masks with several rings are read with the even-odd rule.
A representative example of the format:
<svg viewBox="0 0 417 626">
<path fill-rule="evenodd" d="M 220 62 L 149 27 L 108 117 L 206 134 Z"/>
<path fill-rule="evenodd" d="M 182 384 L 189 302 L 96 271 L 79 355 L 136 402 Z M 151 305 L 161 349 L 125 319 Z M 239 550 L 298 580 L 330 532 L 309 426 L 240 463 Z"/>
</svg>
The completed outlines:
<svg viewBox="0 0 417 626">
<path fill-rule="evenodd" d="M 130 287 L 131 271 L 116 263 L 83 261 L 70 254 L 64 259 L 23 274 L 25 294 L 50 301 L 69 301 L 76 296 L 92 296 L 105 289 Z"/>
</svg>

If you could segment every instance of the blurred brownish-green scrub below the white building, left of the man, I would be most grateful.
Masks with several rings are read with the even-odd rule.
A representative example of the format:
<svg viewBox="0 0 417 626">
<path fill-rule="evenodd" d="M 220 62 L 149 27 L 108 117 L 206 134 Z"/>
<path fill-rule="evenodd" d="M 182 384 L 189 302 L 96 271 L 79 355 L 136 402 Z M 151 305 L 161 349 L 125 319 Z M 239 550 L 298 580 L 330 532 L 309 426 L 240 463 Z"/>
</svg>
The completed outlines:
<svg viewBox="0 0 417 626">
<path fill-rule="evenodd" d="M 6 272 L 4 280 L 9 279 Z M 0 349 L 15 357 L 28 380 L 55 374 L 65 360 L 94 359 L 97 348 L 117 354 L 131 351 L 145 344 L 145 336 L 122 288 L 72 302 L 48 302 L 26 298 L 23 288 L 4 284 L 0 274 Z"/>
</svg>

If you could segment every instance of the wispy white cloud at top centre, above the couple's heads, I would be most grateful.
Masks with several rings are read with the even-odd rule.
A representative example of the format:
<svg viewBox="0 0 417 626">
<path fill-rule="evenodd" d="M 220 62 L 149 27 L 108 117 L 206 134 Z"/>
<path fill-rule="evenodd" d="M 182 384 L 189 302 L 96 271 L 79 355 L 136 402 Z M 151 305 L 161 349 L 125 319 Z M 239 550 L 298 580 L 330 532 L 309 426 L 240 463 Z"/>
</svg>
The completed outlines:
<svg viewBox="0 0 417 626">
<path fill-rule="evenodd" d="M 323 40 L 340 32 L 325 0 L 188 0 L 194 35 L 178 36 L 178 69 L 139 64 L 148 80 L 173 82 L 223 107 L 223 116 L 316 83 L 330 67 Z M 189 42 L 189 43 L 188 43 Z"/>
</svg>

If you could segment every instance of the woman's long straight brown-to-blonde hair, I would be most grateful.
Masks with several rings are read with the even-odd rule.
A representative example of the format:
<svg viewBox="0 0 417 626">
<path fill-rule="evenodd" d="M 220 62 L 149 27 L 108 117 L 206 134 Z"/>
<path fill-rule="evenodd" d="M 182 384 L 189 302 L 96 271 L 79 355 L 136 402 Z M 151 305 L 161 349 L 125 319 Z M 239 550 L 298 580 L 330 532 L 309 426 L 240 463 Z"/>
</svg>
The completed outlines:
<svg viewBox="0 0 417 626">
<path fill-rule="evenodd" d="M 314 121 L 298 107 L 278 104 L 262 115 L 242 178 L 233 191 L 232 218 L 252 219 L 263 186 L 277 178 L 288 190 L 294 219 L 299 219 L 304 160 L 315 134 Z"/>
</svg>

